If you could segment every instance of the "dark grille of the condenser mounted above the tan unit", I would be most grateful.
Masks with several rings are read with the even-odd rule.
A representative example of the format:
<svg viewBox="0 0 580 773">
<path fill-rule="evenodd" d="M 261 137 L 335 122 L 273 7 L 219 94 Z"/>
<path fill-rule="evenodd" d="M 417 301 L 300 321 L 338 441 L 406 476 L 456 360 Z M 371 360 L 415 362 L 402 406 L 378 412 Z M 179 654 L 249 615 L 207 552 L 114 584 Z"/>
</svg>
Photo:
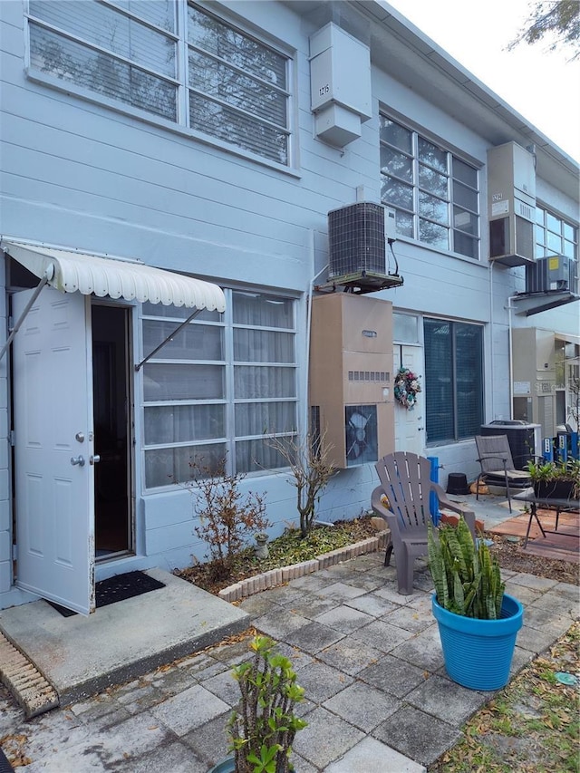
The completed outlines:
<svg viewBox="0 0 580 773">
<path fill-rule="evenodd" d="M 386 275 L 384 208 L 369 201 L 328 213 L 329 277 Z"/>
</svg>

